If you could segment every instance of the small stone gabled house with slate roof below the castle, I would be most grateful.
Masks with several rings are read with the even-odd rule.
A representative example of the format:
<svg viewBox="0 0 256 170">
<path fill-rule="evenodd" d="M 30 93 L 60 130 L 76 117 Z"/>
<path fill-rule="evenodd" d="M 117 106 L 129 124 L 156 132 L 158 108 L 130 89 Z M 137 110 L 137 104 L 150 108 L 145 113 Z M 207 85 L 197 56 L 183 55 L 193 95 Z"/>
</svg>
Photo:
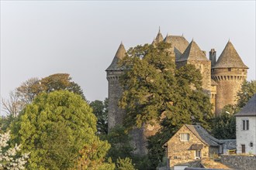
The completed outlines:
<svg viewBox="0 0 256 170">
<path fill-rule="evenodd" d="M 198 159 L 219 155 L 221 144 L 200 125 L 185 124 L 164 144 L 168 166 L 189 166 Z"/>
</svg>

